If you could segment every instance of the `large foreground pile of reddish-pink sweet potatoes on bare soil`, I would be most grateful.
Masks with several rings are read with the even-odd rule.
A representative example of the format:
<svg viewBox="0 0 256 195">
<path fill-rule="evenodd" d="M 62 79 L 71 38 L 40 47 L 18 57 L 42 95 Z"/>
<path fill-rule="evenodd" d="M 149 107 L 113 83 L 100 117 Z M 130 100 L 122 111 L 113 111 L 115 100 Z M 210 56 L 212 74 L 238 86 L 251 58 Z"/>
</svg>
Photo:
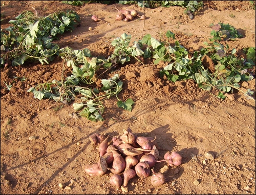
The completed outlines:
<svg viewBox="0 0 256 195">
<path fill-rule="evenodd" d="M 97 163 L 87 164 L 84 170 L 90 176 L 101 176 L 110 170 L 113 173 L 110 178 L 113 186 L 127 187 L 132 178 L 147 178 L 151 174 L 152 185 L 160 186 L 165 182 L 165 177 L 161 172 L 154 171 L 155 164 L 164 161 L 168 166 L 178 166 L 182 163 L 182 157 L 175 151 L 167 151 L 164 160 L 158 160 L 156 138 L 138 137 L 131 128 L 124 130 L 123 135 L 113 137 L 112 142 L 108 138 L 98 133 L 89 137 L 98 146 L 100 158 Z"/>
</svg>

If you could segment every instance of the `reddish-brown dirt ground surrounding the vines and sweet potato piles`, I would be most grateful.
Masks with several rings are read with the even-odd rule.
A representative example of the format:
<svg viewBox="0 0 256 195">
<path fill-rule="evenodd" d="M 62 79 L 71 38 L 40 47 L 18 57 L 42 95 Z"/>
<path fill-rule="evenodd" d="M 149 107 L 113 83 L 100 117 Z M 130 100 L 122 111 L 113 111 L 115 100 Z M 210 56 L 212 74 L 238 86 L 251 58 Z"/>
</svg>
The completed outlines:
<svg viewBox="0 0 256 195">
<path fill-rule="evenodd" d="M 88 48 L 92 56 L 111 55 L 112 40 L 124 32 L 138 40 L 146 34 L 159 39 L 170 30 L 182 46 L 198 50 L 209 41 L 210 25 L 219 22 L 234 26 L 244 35 L 229 41 L 230 48 L 239 51 L 255 47 L 255 10 L 249 1 L 203 2 L 204 8 L 194 19 L 189 19 L 180 7 L 146 8 L 142 30 L 143 20 L 115 21 L 114 5 L 75 7 L 61 1 L 1 1 L 1 13 L 5 15 L 1 28 L 9 27 L 8 21 L 22 11 L 34 11 L 33 6 L 38 16 L 76 11 L 80 27 L 55 42 L 61 48 Z M 143 12 L 135 5 L 116 7 Z M 93 22 L 94 14 L 101 21 Z M 48 109 L 54 104 L 52 100 L 39 101 L 27 92 L 37 83 L 60 80 L 61 59 L 49 65 L 38 62 L 1 69 L 1 194 L 255 194 L 255 101 L 240 92 L 218 99 L 214 96 L 217 92 L 203 91 L 193 80 L 173 83 L 161 79 L 159 70 L 165 63 L 144 63 L 131 61 L 105 75 L 111 78 L 118 73 L 124 82 L 118 97 L 132 98 L 135 104 L 132 112 L 124 111 L 116 106 L 115 98 L 110 98 L 104 102 L 102 122 L 72 117 L 72 103 L 57 103 Z M 65 75 L 70 73 L 66 67 Z M 26 80 L 15 80 L 8 91 L 5 82 L 12 83 L 14 77 Z M 255 92 L 255 79 L 241 86 L 244 92 Z M 165 169 L 166 181 L 160 187 L 151 185 L 151 176 L 136 177 L 125 192 L 110 184 L 113 174 L 109 170 L 97 177 L 84 172 L 84 165 L 96 163 L 99 158 L 89 136 L 100 133 L 112 138 L 128 127 L 138 136 L 156 137 L 160 159 L 167 151 L 177 151 L 183 157 L 180 166 Z M 36 139 L 30 140 L 31 136 Z M 207 151 L 215 159 L 206 159 Z M 191 158 L 193 155 L 196 157 Z M 158 172 L 163 167 L 163 162 L 156 163 L 154 169 Z"/>
</svg>

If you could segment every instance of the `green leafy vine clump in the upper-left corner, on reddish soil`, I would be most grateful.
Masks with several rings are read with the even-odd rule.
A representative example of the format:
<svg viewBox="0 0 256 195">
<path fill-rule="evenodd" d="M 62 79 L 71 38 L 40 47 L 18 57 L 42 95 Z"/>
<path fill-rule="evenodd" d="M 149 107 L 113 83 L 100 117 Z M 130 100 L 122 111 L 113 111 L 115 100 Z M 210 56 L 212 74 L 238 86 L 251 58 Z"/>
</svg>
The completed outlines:
<svg viewBox="0 0 256 195">
<path fill-rule="evenodd" d="M 10 20 L 12 27 L 1 29 L 1 67 L 12 61 L 12 66 L 24 64 L 25 61 L 49 63 L 59 52 L 59 47 L 52 43 L 58 34 L 74 30 L 80 22 L 79 16 L 69 11 L 37 17 L 30 11 L 23 11 Z"/>
</svg>

